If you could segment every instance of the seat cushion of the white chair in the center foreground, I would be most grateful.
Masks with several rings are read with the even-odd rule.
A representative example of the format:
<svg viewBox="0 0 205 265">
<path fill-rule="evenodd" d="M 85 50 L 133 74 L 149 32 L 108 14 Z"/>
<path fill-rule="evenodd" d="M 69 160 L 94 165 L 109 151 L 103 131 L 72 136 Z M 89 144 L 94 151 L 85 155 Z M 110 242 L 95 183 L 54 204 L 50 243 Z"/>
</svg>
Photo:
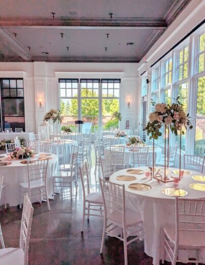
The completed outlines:
<svg viewBox="0 0 205 265">
<path fill-rule="evenodd" d="M 142 222 L 141 214 L 134 210 L 126 209 L 126 226 L 136 225 Z M 113 211 L 108 215 L 108 219 L 118 226 L 122 226 L 122 208 L 119 211 Z"/>
</svg>

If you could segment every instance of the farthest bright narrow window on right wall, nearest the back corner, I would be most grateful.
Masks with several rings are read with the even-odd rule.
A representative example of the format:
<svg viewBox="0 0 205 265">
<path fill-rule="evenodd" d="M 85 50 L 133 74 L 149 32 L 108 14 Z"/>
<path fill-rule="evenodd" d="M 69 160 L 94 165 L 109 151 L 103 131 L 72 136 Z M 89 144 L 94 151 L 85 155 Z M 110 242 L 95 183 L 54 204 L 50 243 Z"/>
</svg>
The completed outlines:
<svg viewBox="0 0 205 265">
<path fill-rule="evenodd" d="M 153 69 L 152 71 L 152 83 L 151 83 L 151 100 L 156 104 L 159 103 L 159 80 L 160 80 L 160 67 Z M 154 111 L 151 105 L 151 111 Z"/>
</svg>

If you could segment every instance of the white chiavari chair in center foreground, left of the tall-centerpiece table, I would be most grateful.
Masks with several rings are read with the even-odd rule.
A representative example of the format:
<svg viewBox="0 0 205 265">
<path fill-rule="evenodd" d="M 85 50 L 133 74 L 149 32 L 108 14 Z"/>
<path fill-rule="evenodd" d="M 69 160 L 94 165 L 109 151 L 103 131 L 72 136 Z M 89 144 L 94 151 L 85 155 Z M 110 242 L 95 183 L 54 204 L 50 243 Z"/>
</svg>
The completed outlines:
<svg viewBox="0 0 205 265">
<path fill-rule="evenodd" d="M 124 243 L 125 265 L 127 265 L 128 244 L 143 237 L 141 214 L 126 207 L 125 185 L 119 185 L 100 179 L 100 187 L 103 195 L 105 212 L 100 254 L 103 253 L 106 234 L 114 236 Z M 120 236 L 115 235 L 112 233 L 115 228 L 120 228 L 123 233 L 121 233 Z M 130 228 L 133 228 L 133 231 L 130 231 Z M 138 235 L 136 236 L 136 234 Z M 132 238 L 128 240 L 131 236 Z"/>
</svg>

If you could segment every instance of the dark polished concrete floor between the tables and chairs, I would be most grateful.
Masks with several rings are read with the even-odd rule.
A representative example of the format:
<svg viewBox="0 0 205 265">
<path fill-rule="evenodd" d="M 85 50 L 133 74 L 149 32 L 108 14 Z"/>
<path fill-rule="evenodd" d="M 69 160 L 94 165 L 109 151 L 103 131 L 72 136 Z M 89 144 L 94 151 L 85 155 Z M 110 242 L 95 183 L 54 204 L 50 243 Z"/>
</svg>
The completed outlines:
<svg viewBox="0 0 205 265">
<path fill-rule="evenodd" d="M 94 161 L 94 157 L 92 159 Z M 71 201 L 67 192 L 58 194 L 47 203 L 33 203 L 34 214 L 29 243 L 29 264 L 124 264 L 124 248 L 117 238 L 106 237 L 104 253 L 99 254 L 103 218 L 90 217 L 81 234 L 83 198 L 78 176 L 77 195 Z M 92 190 L 98 190 L 98 175 L 91 169 Z M 75 195 L 75 191 L 74 191 Z M 6 247 L 18 247 L 22 210 L 17 207 L 1 209 L 0 221 Z M 144 241 L 128 246 L 128 263 L 151 265 L 152 258 L 144 253 Z M 165 264 L 171 264 L 166 262 Z M 190 263 L 191 264 L 191 263 Z M 4 264 L 1 264 L 4 265 Z M 5 264 L 9 265 L 9 264 Z"/>
</svg>

